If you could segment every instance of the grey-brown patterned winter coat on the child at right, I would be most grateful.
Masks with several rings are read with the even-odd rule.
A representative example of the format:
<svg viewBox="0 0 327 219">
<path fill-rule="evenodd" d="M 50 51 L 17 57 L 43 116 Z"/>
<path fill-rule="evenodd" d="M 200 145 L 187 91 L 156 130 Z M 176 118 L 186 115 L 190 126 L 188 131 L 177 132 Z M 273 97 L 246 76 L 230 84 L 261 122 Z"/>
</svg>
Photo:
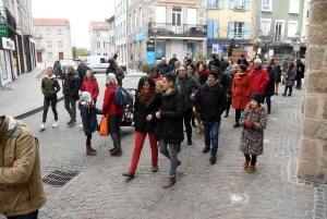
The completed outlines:
<svg viewBox="0 0 327 219">
<path fill-rule="evenodd" d="M 245 126 L 246 120 L 251 120 L 251 129 Z M 240 125 L 244 126 L 241 137 L 240 150 L 247 155 L 264 154 L 264 130 L 267 124 L 267 114 L 264 105 L 252 111 L 249 107 L 243 111 Z"/>
</svg>

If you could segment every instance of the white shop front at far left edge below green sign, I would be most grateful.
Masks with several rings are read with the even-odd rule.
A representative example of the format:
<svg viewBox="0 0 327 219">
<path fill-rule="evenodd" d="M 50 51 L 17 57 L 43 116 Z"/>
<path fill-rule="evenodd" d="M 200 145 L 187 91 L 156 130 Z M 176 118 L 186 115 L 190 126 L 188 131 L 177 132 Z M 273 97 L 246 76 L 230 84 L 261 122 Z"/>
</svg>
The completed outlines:
<svg viewBox="0 0 327 219">
<path fill-rule="evenodd" d="M 15 50 L 15 44 L 10 38 L 0 39 L 0 86 L 4 86 L 13 81 L 12 50 Z"/>
</svg>

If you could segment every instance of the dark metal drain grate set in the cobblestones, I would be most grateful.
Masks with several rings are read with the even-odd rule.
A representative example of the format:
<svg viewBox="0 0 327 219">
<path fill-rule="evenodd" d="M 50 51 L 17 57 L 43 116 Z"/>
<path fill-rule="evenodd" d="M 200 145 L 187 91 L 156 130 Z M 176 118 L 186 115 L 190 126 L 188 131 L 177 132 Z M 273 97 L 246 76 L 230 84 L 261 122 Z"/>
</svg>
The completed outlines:
<svg viewBox="0 0 327 219">
<path fill-rule="evenodd" d="M 56 187 L 62 187 L 78 174 L 78 171 L 63 172 L 61 170 L 55 170 L 50 174 L 43 178 L 43 182 L 48 185 L 53 185 Z"/>
</svg>

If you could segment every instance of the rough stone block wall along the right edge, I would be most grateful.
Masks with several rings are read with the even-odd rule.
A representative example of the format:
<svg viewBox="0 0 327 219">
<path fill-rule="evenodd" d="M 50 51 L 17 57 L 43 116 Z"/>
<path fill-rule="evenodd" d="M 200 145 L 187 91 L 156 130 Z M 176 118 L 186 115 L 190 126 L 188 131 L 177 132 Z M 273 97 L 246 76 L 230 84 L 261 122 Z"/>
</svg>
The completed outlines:
<svg viewBox="0 0 327 219">
<path fill-rule="evenodd" d="M 327 0 L 313 0 L 298 177 L 327 183 Z"/>
</svg>

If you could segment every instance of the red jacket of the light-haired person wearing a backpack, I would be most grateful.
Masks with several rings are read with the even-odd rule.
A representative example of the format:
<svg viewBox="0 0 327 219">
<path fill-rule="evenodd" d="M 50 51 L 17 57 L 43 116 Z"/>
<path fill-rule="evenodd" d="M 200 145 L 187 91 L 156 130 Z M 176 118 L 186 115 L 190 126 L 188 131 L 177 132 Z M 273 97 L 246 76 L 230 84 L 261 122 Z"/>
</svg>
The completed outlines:
<svg viewBox="0 0 327 219">
<path fill-rule="evenodd" d="M 112 87 L 118 87 L 117 84 L 109 84 L 105 90 L 104 105 L 102 105 L 102 114 L 104 115 L 116 115 L 123 114 L 124 107 L 120 107 L 113 104 L 114 89 Z"/>
</svg>

